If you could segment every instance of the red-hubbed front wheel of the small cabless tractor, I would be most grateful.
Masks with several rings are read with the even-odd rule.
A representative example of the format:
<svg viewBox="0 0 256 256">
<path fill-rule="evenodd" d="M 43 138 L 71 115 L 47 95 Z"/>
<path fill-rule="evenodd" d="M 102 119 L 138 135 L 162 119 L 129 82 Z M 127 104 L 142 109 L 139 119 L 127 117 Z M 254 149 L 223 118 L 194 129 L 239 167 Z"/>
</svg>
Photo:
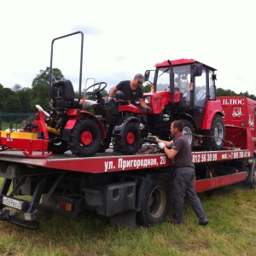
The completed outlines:
<svg viewBox="0 0 256 256">
<path fill-rule="evenodd" d="M 122 154 L 137 153 L 141 146 L 141 131 L 137 123 L 128 123 L 122 136 L 113 137 L 113 151 Z"/>
</svg>

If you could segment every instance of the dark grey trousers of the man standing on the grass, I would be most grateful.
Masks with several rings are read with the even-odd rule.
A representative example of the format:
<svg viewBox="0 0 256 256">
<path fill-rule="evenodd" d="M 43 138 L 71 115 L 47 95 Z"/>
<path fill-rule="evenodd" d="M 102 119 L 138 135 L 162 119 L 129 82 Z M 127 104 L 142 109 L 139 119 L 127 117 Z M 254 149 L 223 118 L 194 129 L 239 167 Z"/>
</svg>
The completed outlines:
<svg viewBox="0 0 256 256">
<path fill-rule="evenodd" d="M 183 222 L 184 196 L 187 195 L 190 206 L 199 220 L 207 218 L 201 201 L 195 194 L 195 169 L 193 167 L 177 167 L 174 174 L 172 188 L 173 213 L 177 222 Z"/>
</svg>

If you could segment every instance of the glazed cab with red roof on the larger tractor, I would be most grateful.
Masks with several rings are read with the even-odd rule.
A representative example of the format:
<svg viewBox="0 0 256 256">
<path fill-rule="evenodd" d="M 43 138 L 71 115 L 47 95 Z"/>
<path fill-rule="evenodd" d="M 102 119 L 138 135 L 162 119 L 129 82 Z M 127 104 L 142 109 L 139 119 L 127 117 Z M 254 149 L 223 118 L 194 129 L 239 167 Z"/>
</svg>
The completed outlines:
<svg viewBox="0 0 256 256">
<path fill-rule="evenodd" d="M 167 92 L 167 100 L 179 108 L 205 108 L 207 100 L 216 100 L 216 69 L 199 61 L 181 59 L 157 63 L 154 92 Z M 149 79 L 150 71 L 145 73 Z"/>
</svg>

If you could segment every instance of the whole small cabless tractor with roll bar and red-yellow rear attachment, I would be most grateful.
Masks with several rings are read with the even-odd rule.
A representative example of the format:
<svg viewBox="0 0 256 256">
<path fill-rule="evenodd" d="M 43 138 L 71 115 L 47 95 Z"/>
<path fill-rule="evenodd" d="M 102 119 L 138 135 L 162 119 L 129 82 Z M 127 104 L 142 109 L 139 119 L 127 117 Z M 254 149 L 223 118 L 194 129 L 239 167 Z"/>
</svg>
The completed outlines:
<svg viewBox="0 0 256 256">
<path fill-rule="evenodd" d="M 55 40 L 81 34 L 79 99 L 75 99 L 73 84 L 68 79 L 52 83 L 53 46 Z M 81 99 L 81 80 L 83 63 L 84 34 L 74 32 L 55 38 L 51 44 L 49 69 L 49 105 L 51 110 L 44 111 L 37 106 L 38 113 L 33 122 L 26 123 L 24 131 L 1 132 L 0 150 L 15 148 L 24 150 L 28 157 L 47 157 L 49 154 L 64 154 L 70 150 L 79 157 L 104 152 L 111 141 L 114 151 L 122 154 L 134 154 L 141 146 L 143 123 L 139 109 L 129 102 L 102 98 L 102 90 L 107 83 L 92 84 L 86 90 L 87 95 L 96 94 L 97 101 L 92 102 L 95 114 L 83 109 L 87 100 Z M 88 105 L 88 104 L 87 104 Z M 107 133 L 107 137 L 106 137 Z M 42 154 L 35 154 L 41 151 Z M 48 152 L 48 153 L 46 153 Z"/>
</svg>

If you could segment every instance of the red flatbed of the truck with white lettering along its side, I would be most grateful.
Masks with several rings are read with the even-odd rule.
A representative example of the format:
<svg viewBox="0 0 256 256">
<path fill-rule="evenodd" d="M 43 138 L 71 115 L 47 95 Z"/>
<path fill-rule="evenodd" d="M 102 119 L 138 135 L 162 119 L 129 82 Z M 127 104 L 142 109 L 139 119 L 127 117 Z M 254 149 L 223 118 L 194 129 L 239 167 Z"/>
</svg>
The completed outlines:
<svg viewBox="0 0 256 256">
<path fill-rule="evenodd" d="M 253 157 L 249 149 L 224 149 L 220 151 L 193 152 L 194 163 L 204 163 L 221 160 L 235 160 Z M 106 153 L 92 157 L 79 158 L 67 152 L 66 154 L 50 155 L 47 158 L 28 158 L 22 151 L 7 149 L 0 152 L 0 160 L 20 163 L 27 166 L 44 166 L 46 168 L 67 170 L 73 172 L 120 172 L 136 169 L 173 166 L 173 161 L 166 154 L 134 154 L 122 155 L 113 153 L 110 148 Z"/>
</svg>

